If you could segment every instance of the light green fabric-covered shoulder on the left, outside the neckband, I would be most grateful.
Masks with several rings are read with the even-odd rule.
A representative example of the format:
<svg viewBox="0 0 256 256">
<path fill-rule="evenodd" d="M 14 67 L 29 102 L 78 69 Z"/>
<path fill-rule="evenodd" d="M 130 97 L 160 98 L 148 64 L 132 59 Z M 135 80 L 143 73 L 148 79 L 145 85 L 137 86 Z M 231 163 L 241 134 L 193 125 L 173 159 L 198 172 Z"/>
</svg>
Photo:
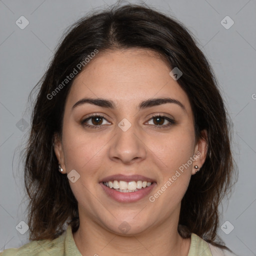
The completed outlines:
<svg viewBox="0 0 256 256">
<path fill-rule="evenodd" d="M 49 256 L 64 255 L 64 240 L 66 231 L 53 240 L 36 240 L 28 242 L 19 248 L 5 249 L 0 256 Z"/>
</svg>

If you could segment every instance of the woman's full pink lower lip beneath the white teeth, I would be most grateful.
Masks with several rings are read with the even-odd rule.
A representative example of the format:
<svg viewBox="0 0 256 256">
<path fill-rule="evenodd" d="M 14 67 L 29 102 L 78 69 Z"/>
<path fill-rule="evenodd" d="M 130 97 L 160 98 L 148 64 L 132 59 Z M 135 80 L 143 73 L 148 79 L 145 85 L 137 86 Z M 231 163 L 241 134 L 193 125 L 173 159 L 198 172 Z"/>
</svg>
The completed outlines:
<svg viewBox="0 0 256 256">
<path fill-rule="evenodd" d="M 153 187 L 156 185 L 156 183 L 153 182 L 150 186 L 141 188 L 135 192 L 119 192 L 113 188 L 109 188 L 109 187 L 105 186 L 101 182 L 99 184 L 101 185 L 101 187 L 104 189 L 104 191 L 106 192 L 106 194 L 108 196 L 110 196 L 111 198 L 113 198 L 114 200 L 116 200 L 118 202 L 138 201 L 138 200 L 142 199 L 143 197 L 145 197 L 146 195 L 148 195 L 151 192 L 151 190 L 153 189 Z"/>
</svg>

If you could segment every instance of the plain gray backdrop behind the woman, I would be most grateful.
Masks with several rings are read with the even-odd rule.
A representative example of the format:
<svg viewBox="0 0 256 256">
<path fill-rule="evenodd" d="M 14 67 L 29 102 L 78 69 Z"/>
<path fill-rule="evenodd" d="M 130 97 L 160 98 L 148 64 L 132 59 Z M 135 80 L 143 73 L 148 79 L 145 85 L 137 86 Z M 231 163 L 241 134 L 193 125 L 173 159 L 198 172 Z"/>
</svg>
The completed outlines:
<svg viewBox="0 0 256 256">
<path fill-rule="evenodd" d="M 18 162 L 30 127 L 28 94 L 46 70 L 66 27 L 92 9 L 114 2 L 0 0 L 0 250 L 27 241 L 28 232 L 20 234 L 15 226 L 26 221 L 27 201 Z M 231 224 L 234 229 L 226 234 L 219 227 L 218 232 L 237 254 L 256 255 L 256 1 L 145 2 L 183 22 L 198 38 L 213 66 L 234 124 L 232 148 L 239 169 L 230 200 L 223 201 L 220 221 L 230 222 L 224 225 L 226 232 Z M 24 29 L 15 24 L 21 15 L 29 21 Z M 220 23 L 226 15 L 234 21 L 229 29 Z M 23 126 L 21 118 L 25 120 Z"/>
</svg>

